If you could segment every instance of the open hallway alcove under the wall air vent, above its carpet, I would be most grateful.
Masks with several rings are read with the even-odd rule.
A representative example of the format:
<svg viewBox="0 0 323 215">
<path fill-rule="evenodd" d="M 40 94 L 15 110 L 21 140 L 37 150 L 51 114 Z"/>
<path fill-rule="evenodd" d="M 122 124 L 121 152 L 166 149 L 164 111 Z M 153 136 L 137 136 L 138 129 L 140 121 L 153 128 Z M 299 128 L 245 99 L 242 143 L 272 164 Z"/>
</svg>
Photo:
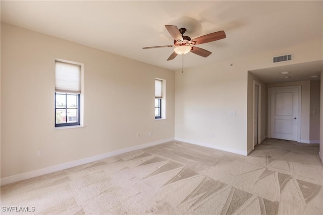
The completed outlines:
<svg viewBox="0 0 323 215">
<path fill-rule="evenodd" d="M 250 100 L 248 101 L 248 153 L 250 153 L 254 149 L 254 146 L 260 144 L 260 142 L 266 137 L 289 139 L 282 136 L 275 137 L 271 134 L 271 127 L 274 123 L 271 123 L 271 121 L 273 120 L 271 120 L 271 117 L 269 116 L 270 112 L 276 111 L 275 109 L 277 109 L 280 111 L 278 115 L 285 115 L 285 111 L 288 112 L 288 110 L 280 109 L 282 107 L 281 105 L 272 108 L 268 104 L 271 102 L 271 99 L 268 98 L 270 96 L 270 93 L 268 92 L 270 91 L 270 88 L 294 88 L 296 86 L 301 86 L 301 89 L 299 89 L 300 98 L 298 97 L 300 101 L 300 105 L 298 105 L 298 107 L 300 106 L 300 108 L 297 116 L 295 114 L 293 114 L 295 116 L 286 114 L 288 115 L 288 117 L 290 117 L 290 119 L 285 121 L 284 119 L 276 119 L 280 121 L 276 123 L 276 126 L 274 126 L 273 130 L 275 130 L 277 127 L 278 130 L 276 129 L 276 133 L 288 133 L 288 127 L 286 126 L 286 124 L 293 122 L 295 124 L 296 122 L 297 127 L 293 130 L 297 130 L 297 138 L 294 138 L 294 141 L 302 142 L 305 144 L 318 144 L 320 142 L 320 100 L 323 101 L 320 98 L 320 92 L 322 92 L 322 89 L 320 89 L 320 70 L 322 68 L 322 63 L 323 60 L 317 60 L 304 63 L 249 70 L 248 95 Z M 258 109 L 256 106 L 257 87 L 255 87 L 255 82 L 260 83 L 262 87 L 262 111 L 260 110 L 262 113 L 259 112 L 258 114 Z M 258 92 L 260 92 L 260 88 L 258 88 Z M 281 100 L 284 102 L 290 100 L 288 98 L 288 95 L 284 93 L 279 93 L 278 97 L 279 98 L 274 99 Z M 261 129 L 258 127 L 258 124 L 261 125 Z M 260 140 L 259 138 L 257 138 L 259 133 Z"/>
</svg>

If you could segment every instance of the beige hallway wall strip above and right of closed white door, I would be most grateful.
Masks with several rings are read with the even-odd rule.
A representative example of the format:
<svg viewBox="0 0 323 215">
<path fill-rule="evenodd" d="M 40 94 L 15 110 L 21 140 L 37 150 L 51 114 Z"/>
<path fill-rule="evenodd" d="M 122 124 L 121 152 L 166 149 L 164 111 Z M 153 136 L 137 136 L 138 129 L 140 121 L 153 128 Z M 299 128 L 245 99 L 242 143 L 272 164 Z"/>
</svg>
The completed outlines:
<svg viewBox="0 0 323 215">
<path fill-rule="evenodd" d="M 309 102 L 310 85 L 309 81 L 302 82 L 282 82 L 267 84 L 267 87 L 301 86 L 301 140 L 309 141 Z M 269 110 L 268 110 L 269 111 Z"/>
</svg>

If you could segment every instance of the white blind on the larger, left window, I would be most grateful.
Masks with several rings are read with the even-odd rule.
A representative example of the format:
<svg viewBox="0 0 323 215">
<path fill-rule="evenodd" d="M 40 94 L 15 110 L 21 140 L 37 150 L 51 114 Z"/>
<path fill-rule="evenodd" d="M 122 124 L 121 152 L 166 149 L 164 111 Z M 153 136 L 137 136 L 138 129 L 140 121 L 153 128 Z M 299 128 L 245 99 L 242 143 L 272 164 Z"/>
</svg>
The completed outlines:
<svg viewBox="0 0 323 215">
<path fill-rule="evenodd" d="M 55 92 L 81 94 L 81 66 L 55 61 Z"/>
</svg>

